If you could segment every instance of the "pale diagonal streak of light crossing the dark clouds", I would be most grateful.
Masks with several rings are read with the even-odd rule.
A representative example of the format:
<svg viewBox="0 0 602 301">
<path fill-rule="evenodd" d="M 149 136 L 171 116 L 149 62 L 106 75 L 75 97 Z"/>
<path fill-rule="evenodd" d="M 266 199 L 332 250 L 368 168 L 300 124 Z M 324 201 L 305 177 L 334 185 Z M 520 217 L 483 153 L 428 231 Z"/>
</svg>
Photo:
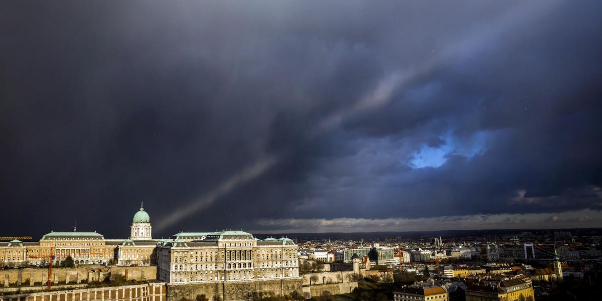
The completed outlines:
<svg viewBox="0 0 602 301">
<path fill-rule="evenodd" d="M 370 93 L 367 93 L 367 95 L 353 102 L 349 107 L 342 108 L 323 118 L 317 123 L 317 126 L 311 133 L 313 135 L 318 135 L 330 131 L 349 117 L 366 111 L 375 110 L 376 108 L 388 104 L 388 102 L 391 101 L 391 96 L 394 92 L 405 88 L 417 79 L 423 78 L 423 76 L 428 75 L 436 67 L 445 66 L 447 61 L 451 58 L 470 57 L 475 52 L 479 52 L 480 49 L 488 45 L 488 43 L 491 43 L 492 39 L 494 39 L 497 34 L 515 28 L 521 23 L 527 22 L 527 20 L 543 16 L 548 11 L 556 8 L 561 1 L 547 1 L 544 3 L 545 5 L 542 6 L 535 2 L 519 2 L 509 13 L 504 14 L 497 20 L 492 20 L 492 22 L 489 23 L 489 26 L 477 29 L 458 43 L 447 45 L 447 47 L 439 49 L 435 52 L 435 57 L 430 60 L 411 69 L 398 70 L 389 73 L 379 81 Z M 469 50 L 467 51 L 467 49 Z M 185 219 L 192 214 L 197 213 L 199 210 L 211 206 L 219 197 L 224 196 L 235 188 L 240 187 L 240 185 L 244 185 L 264 174 L 270 167 L 278 164 L 278 161 L 283 157 L 285 157 L 285 154 L 266 155 L 265 159 L 258 161 L 250 167 L 235 172 L 222 184 L 214 188 L 214 190 L 209 191 L 209 193 L 204 194 L 187 205 L 175 209 L 169 216 L 164 217 L 163 220 L 155 226 L 155 229 L 157 229 L 157 231 L 162 231 L 169 226 L 175 225 L 179 220 Z"/>
</svg>

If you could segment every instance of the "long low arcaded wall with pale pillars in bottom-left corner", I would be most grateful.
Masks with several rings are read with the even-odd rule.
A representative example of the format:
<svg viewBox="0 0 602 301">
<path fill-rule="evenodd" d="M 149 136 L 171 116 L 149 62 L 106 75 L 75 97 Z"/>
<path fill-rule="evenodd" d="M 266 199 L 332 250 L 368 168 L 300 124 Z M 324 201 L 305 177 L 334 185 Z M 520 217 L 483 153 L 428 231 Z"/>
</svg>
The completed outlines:
<svg viewBox="0 0 602 301">
<path fill-rule="evenodd" d="M 1 301 L 164 301 L 165 282 L 0 296 Z"/>
</svg>

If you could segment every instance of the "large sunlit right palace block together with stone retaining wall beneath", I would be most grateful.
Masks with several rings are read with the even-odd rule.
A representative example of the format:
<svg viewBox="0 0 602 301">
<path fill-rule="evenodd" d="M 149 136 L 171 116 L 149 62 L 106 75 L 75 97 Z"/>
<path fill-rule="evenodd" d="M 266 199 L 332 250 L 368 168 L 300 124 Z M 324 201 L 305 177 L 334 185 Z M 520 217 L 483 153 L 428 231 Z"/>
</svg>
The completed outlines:
<svg viewBox="0 0 602 301">
<path fill-rule="evenodd" d="M 300 291 L 298 247 L 293 240 L 258 240 L 244 231 L 216 231 L 204 236 L 203 240 L 158 243 L 157 276 L 172 288 L 169 300 L 178 299 L 179 285 L 222 300 L 240 300 L 251 293 L 285 295 Z"/>
</svg>

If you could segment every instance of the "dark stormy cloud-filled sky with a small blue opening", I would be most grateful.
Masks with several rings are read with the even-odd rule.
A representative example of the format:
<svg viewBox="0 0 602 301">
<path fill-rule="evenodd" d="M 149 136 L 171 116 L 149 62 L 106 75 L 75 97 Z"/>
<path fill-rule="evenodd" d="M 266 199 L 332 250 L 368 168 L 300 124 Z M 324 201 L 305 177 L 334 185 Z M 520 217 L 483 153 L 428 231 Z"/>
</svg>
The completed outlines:
<svg viewBox="0 0 602 301">
<path fill-rule="evenodd" d="M 0 4 L 0 236 L 602 227 L 602 2 Z"/>
</svg>

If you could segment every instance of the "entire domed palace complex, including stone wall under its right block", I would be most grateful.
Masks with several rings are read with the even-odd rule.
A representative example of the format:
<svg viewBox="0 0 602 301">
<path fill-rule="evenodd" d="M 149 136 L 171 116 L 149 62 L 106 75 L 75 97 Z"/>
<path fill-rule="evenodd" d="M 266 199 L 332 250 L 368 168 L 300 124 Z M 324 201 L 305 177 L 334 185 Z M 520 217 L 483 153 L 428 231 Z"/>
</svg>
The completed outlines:
<svg viewBox="0 0 602 301">
<path fill-rule="evenodd" d="M 179 232 L 154 240 L 144 208 L 134 215 L 128 239 L 105 239 L 96 232 L 50 232 L 40 241 L 0 243 L 0 265 L 53 264 L 71 256 L 77 265 L 157 264 L 167 282 L 167 301 L 205 294 L 209 300 L 243 300 L 251 293 L 285 295 L 302 291 L 297 244 L 289 238 L 258 240 L 243 231 Z M 45 258 L 46 257 L 46 258 Z"/>
</svg>

